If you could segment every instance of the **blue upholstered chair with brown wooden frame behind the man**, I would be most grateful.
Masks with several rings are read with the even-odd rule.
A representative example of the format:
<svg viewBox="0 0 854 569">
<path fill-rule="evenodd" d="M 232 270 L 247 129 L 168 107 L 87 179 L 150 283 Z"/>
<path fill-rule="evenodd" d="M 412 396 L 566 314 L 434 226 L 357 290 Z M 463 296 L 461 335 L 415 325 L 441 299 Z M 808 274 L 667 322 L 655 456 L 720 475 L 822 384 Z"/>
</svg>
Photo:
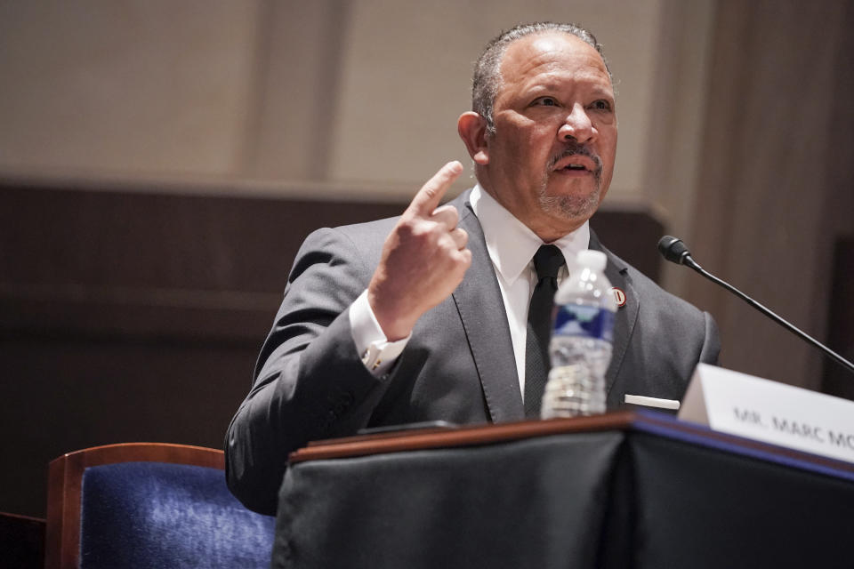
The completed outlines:
<svg viewBox="0 0 854 569">
<path fill-rule="evenodd" d="M 229 492 L 222 451 L 127 443 L 50 464 L 45 566 L 270 566 L 275 518 Z"/>
</svg>

